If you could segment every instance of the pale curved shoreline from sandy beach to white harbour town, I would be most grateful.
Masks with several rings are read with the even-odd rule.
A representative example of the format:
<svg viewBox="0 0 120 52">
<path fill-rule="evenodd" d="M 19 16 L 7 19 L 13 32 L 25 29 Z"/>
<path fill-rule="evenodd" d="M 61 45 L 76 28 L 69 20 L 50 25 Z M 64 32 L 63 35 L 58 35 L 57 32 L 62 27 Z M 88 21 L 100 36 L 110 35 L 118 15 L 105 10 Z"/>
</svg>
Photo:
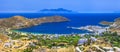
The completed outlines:
<svg viewBox="0 0 120 52">
<path fill-rule="evenodd" d="M 103 26 L 98 26 L 98 25 L 87 25 L 87 26 L 82 26 L 82 27 L 69 27 L 71 29 L 78 29 L 78 30 L 86 30 L 88 32 L 86 33 L 70 33 L 70 34 L 59 34 L 59 33 L 39 33 L 39 32 L 25 32 L 25 31 L 20 31 L 19 29 L 13 29 L 10 30 L 11 32 L 16 32 L 16 33 L 24 33 L 24 34 L 32 34 L 32 35 L 86 35 L 86 34 L 102 34 L 102 32 L 107 31 L 109 27 L 103 27 Z M 89 29 L 90 28 L 90 29 Z"/>
</svg>

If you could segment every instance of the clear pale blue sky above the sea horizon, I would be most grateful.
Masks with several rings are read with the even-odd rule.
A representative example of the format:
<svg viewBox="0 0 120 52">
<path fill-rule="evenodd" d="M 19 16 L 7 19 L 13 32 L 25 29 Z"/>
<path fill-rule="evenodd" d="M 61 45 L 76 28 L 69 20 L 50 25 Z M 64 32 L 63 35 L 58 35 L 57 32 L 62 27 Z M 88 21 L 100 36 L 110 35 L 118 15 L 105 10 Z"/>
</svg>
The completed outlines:
<svg viewBox="0 0 120 52">
<path fill-rule="evenodd" d="M 57 8 L 81 13 L 120 12 L 120 0 L 0 0 L 0 12 L 37 12 Z"/>
</svg>

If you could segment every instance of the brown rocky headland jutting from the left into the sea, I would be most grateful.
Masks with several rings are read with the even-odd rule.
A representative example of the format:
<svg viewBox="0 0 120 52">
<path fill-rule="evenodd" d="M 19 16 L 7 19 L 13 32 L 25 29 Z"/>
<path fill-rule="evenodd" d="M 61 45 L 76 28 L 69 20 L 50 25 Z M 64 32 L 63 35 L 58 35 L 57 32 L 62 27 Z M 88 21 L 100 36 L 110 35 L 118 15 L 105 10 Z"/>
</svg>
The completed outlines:
<svg viewBox="0 0 120 52">
<path fill-rule="evenodd" d="M 10 18 L 0 19 L 0 27 L 19 29 L 19 28 L 30 27 L 42 23 L 65 22 L 65 21 L 69 21 L 69 20 L 62 16 L 50 16 L 50 17 L 42 17 L 42 18 L 34 18 L 34 19 L 28 19 L 23 16 L 13 16 Z"/>
</svg>

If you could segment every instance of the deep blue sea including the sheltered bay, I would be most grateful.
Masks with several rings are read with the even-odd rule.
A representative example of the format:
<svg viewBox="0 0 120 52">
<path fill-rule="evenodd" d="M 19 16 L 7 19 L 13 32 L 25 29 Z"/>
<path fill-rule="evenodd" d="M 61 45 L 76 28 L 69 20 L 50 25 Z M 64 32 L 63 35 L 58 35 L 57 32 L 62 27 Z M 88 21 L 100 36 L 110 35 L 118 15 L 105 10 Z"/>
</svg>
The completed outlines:
<svg viewBox="0 0 120 52">
<path fill-rule="evenodd" d="M 70 20 L 69 22 L 45 23 L 17 30 L 21 32 L 40 34 L 89 33 L 85 30 L 72 29 L 68 27 L 82 27 L 87 25 L 103 26 L 99 24 L 101 21 L 113 22 L 114 19 L 120 17 L 120 13 L 0 13 L 0 18 L 9 18 L 16 15 L 24 16 L 30 19 L 59 15 Z"/>
</svg>

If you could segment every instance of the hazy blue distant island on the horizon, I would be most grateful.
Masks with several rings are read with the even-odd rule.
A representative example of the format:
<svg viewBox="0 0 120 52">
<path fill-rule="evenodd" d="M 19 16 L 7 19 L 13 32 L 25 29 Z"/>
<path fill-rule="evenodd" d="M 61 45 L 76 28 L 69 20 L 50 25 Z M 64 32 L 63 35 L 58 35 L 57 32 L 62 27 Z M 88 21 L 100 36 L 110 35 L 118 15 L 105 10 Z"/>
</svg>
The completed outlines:
<svg viewBox="0 0 120 52">
<path fill-rule="evenodd" d="M 77 13 L 72 10 L 67 10 L 64 8 L 57 8 L 57 9 L 43 9 L 38 11 L 39 13 Z"/>
</svg>

